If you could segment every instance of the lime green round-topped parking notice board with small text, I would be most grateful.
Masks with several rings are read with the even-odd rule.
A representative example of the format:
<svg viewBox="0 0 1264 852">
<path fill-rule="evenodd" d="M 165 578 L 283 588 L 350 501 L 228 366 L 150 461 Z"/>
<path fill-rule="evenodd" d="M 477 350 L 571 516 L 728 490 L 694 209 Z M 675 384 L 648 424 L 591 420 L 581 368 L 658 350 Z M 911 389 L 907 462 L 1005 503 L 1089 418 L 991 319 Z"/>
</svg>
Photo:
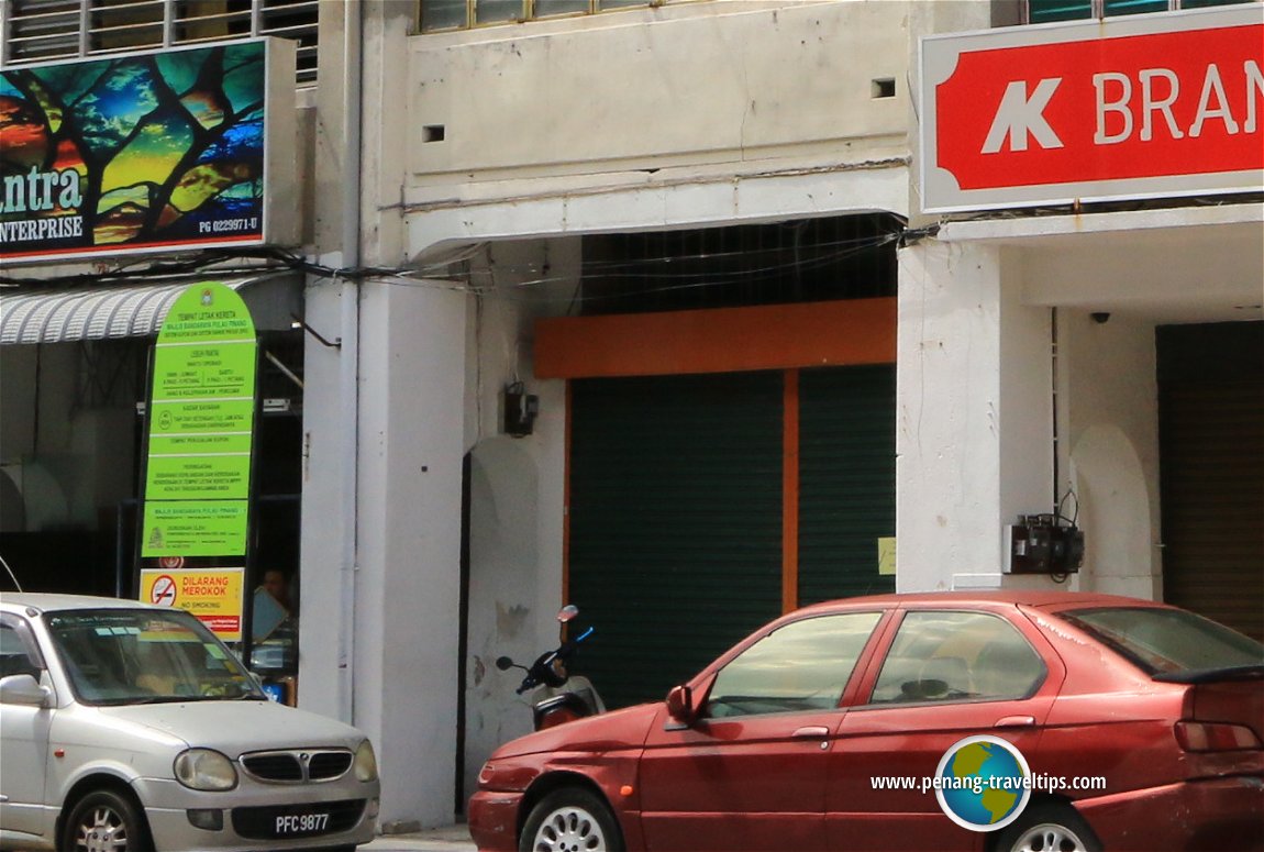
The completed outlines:
<svg viewBox="0 0 1264 852">
<path fill-rule="evenodd" d="M 241 297 L 181 293 L 154 348 L 142 557 L 245 555 L 257 370 Z"/>
</svg>

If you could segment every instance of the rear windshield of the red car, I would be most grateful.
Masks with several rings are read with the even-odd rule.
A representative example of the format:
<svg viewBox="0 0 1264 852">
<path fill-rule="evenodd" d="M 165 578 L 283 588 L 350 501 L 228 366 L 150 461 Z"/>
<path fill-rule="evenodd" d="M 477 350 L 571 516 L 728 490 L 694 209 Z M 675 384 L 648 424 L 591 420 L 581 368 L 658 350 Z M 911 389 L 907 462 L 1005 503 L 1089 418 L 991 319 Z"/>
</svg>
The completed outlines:
<svg viewBox="0 0 1264 852">
<path fill-rule="evenodd" d="M 1163 680 L 1264 674 L 1264 645 L 1182 609 L 1103 607 L 1059 616 Z"/>
</svg>

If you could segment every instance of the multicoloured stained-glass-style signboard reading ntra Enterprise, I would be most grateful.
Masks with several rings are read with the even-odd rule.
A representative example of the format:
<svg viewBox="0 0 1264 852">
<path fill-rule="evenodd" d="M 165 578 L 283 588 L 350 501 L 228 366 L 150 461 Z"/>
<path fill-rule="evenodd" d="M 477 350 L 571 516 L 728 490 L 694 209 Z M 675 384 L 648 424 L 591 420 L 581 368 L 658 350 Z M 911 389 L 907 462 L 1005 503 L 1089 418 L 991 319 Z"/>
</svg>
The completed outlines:
<svg viewBox="0 0 1264 852">
<path fill-rule="evenodd" d="M 254 39 L 0 71 L 0 263 L 292 241 L 293 61 Z"/>
</svg>

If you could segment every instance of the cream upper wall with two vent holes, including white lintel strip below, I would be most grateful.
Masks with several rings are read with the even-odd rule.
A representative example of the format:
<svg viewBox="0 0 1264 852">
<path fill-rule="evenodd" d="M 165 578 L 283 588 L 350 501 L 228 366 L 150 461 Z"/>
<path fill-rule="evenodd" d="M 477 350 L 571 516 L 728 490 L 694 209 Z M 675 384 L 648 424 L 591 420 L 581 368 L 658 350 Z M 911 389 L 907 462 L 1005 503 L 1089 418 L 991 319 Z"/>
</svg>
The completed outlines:
<svg viewBox="0 0 1264 852">
<path fill-rule="evenodd" d="M 909 4 L 700 3 L 408 40 L 403 259 L 908 205 Z M 787 73 L 793 68 L 793 73 Z M 875 80 L 894 97 L 875 97 Z M 442 126 L 442 142 L 423 142 Z M 383 225 L 383 231 L 389 230 Z"/>
</svg>

